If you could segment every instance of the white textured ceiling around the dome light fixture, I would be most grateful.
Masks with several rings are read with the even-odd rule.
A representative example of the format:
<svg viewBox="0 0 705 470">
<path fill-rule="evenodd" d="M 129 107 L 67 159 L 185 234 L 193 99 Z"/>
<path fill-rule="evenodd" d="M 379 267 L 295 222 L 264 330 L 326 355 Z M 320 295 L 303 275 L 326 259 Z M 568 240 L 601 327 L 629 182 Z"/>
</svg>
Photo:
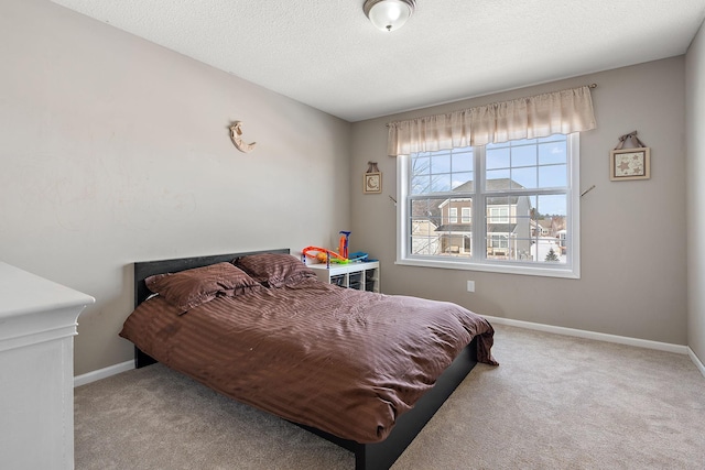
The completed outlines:
<svg viewBox="0 0 705 470">
<path fill-rule="evenodd" d="M 705 0 L 52 0 L 348 121 L 684 54 Z"/>
</svg>

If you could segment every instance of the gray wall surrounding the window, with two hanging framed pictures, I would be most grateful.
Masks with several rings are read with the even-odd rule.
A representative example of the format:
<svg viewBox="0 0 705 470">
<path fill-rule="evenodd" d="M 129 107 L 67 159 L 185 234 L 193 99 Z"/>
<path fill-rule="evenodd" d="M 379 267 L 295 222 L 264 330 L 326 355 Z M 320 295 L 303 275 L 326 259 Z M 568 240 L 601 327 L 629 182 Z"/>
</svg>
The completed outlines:
<svg viewBox="0 0 705 470">
<path fill-rule="evenodd" d="M 669 343 L 686 343 L 685 58 L 619 68 L 510 92 L 357 122 L 352 127 L 352 231 L 382 262 L 382 289 L 446 299 L 479 314 Z M 386 123 L 596 83 L 597 129 L 581 136 L 582 278 L 401 266 L 395 256 L 395 160 Z M 651 179 L 609 181 L 609 151 L 639 131 Z M 701 145 L 702 146 L 702 145 Z M 364 195 L 368 161 L 383 195 Z M 475 293 L 466 281 L 475 281 Z"/>
</svg>

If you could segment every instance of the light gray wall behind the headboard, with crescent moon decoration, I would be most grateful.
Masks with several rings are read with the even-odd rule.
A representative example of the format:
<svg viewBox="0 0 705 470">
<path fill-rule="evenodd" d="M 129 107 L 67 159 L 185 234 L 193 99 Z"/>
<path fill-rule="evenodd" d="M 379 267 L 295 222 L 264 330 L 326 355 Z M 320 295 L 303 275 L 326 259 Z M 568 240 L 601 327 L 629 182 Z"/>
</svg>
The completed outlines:
<svg viewBox="0 0 705 470">
<path fill-rule="evenodd" d="M 343 120 L 45 0 L 0 2 L 0 260 L 96 297 L 77 374 L 132 357 L 133 261 L 348 228 Z"/>
</svg>

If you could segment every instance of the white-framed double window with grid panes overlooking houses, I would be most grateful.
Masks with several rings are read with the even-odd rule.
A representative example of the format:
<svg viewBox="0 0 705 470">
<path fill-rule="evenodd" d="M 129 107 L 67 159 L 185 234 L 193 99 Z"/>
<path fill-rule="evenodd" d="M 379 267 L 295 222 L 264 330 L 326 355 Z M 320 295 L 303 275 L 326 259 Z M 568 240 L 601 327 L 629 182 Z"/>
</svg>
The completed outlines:
<svg viewBox="0 0 705 470">
<path fill-rule="evenodd" d="M 578 139 L 400 155 L 398 263 L 579 277 Z"/>
</svg>

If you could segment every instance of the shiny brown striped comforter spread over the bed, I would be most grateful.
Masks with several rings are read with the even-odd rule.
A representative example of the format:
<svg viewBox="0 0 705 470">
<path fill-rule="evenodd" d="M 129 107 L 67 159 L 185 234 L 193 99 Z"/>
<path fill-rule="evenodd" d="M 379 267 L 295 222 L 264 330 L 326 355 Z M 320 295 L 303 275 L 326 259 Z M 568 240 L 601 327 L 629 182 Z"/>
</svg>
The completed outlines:
<svg viewBox="0 0 705 470">
<path fill-rule="evenodd" d="M 384 439 L 474 337 L 496 364 L 491 325 L 463 307 L 313 278 L 181 313 L 151 298 L 120 336 L 227 396 L 358 442 Z"/>
</svg>

